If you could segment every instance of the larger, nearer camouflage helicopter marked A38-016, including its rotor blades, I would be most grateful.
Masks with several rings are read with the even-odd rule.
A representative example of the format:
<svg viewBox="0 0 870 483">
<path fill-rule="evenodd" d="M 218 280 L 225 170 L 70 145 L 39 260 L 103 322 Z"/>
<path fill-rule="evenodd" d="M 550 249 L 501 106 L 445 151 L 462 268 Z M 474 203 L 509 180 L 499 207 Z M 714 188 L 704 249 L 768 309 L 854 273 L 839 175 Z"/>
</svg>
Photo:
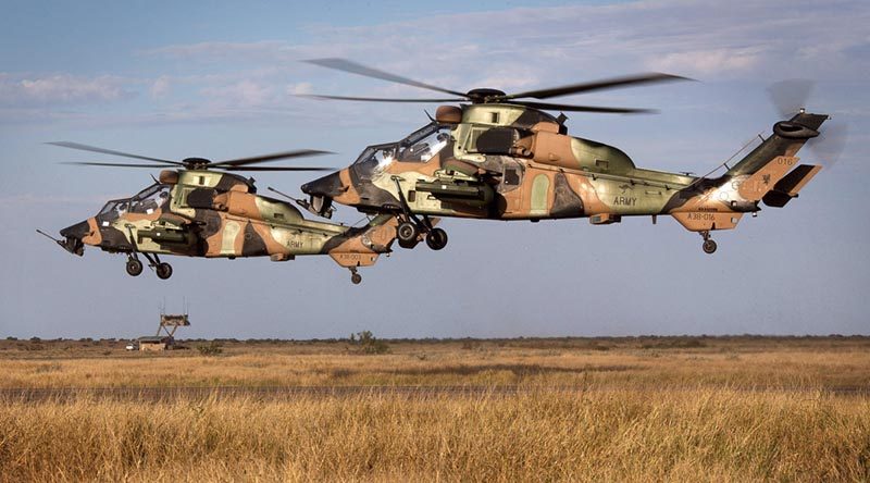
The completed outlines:
<svg viewBox="0 0 870 483">
<path fill-rule="evenodd" d="M 406 138 L 373 145 L 350 166 L 301 186 L 308 209 L 328 218 L 332 203 L 395 216 L 399 245 L 447 245 L 430 216 L 495 220 L 588 218 L 593 225 L 622 216 L 673 216 L 717 249 L 710 232 L 734 228 L 759 202 L 783 207 L 821 170 L 799 164 L 800 147 L 819 135 L 825 114 L 803 109 L 773 125 L 773 134 L 742 160 L 709 177 L 638 168 L 620 149 L 568 135 L 564 114 L 545 111 L 641 113 L 643 109 L 548 103 L 571 94 L 637 86 L 685 77 L 644 74 L 505 94 L 492 88 L 449 90 L 344 59 L 307 61 L 366 77 L 447 94 L 442 99 L 394 99 L 307 95 L 316 99 L 376 102 L 463 102 L 440 106 L 435 117 Z M 527 98 L 538 100 L 525 100 Z M 759 136 L 760 137 L 760 136 Z"/>
</svg>

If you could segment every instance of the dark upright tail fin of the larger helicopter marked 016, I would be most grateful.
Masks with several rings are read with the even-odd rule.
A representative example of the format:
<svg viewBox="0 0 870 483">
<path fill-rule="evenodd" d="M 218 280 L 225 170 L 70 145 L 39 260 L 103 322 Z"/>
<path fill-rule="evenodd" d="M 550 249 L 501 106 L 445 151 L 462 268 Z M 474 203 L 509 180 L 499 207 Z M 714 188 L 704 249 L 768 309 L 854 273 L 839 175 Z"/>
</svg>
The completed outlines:
<svg viewBox="0 0 870 483">
<path fill-rule="evenodd" d="M 819 127 L 826 120 L 826 114 L 800 112 L 788 121 L 778 122 L 773 125 L 773 135 L 725 174 L 730 176 L 755 174 L 779 157 L 794 157 L 808 139 L 819 135 Z"/>
</svg>

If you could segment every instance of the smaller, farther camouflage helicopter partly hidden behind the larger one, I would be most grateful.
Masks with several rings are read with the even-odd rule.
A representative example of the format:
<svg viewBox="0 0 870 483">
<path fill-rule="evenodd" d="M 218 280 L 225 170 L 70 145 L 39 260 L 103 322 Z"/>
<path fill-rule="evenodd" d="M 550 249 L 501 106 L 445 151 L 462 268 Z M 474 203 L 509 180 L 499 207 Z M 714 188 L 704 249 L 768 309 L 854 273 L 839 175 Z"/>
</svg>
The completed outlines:
<svg viewBox="0 0 870 483">
<path fill-rule="evenodd" d="M 161 255 L 228 259 L 268 256 L 272 261 L 293 260 L 301 255 L 328 255 L 349 269 L 351 282 L 359 284 L 362 276 L 357 269 L 374 264 L 381 253 L 389 253 L 396 238 L 394 216 L 375 216 L 361 227 L 306 220 L 290 203 L 258 195 L 252 178 L 231 173 L 332 170 L 253 165 L 324 154 L 325 151 L 298 150 L 219 162 L 202 158 L 171 161 L 76 143 L 49 144 L 148 161 L 141 164 L 71 164 L 173 168 L 162 171 L 153 184 L 137 195 L 111 200 L 96 215 L 61 230 L 63 239 L 37 230 L 77 256 L 84 253 L 85 245 L 111 253 L 126 253 L 126 270 L 132 276 L 142 272 L 139 256 L 148 261 L 159 278 L 165 280 L 172 276 L 172 265 L 161 261 Z"/>
</svg>

